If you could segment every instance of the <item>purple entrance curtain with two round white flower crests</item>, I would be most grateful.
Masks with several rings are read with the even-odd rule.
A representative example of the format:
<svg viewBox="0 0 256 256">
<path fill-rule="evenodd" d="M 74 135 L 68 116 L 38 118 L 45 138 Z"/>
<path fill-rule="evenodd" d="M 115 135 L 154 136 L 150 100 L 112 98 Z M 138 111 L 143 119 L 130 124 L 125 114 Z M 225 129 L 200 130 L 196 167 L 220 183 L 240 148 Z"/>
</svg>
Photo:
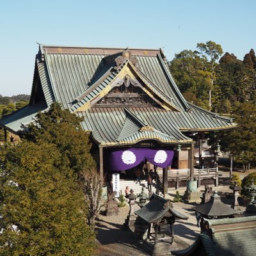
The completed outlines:
<svg viewBox="0 0 256 256">
<path fill-rule="evenodd" d="M 118 150 L 111 152 L 109 168 L 113 171 L 124 171 L 137 166 L 145 159 L 156 166 L 166 168 L 172 165 L 173 155 L 172 150 L 164 149 L 129 148 Z"/>
</svg>

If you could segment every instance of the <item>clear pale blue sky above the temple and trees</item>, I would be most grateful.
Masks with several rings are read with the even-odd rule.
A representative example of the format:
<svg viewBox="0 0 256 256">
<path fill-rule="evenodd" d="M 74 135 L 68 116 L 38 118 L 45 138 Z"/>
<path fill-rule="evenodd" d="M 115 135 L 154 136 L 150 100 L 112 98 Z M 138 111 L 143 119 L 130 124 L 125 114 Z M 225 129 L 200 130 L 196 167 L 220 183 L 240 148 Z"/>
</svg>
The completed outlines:
<svg viewBox="0 0 256 256">
<path fill-rule="evenodd" d="M 0 94 L 30 94 L 36 42 L 164 47 L 168 60 L 212 40 L 243 60 L 255 49 L 255 0 L 6 0 L 0 3 Z"/>
</svg>

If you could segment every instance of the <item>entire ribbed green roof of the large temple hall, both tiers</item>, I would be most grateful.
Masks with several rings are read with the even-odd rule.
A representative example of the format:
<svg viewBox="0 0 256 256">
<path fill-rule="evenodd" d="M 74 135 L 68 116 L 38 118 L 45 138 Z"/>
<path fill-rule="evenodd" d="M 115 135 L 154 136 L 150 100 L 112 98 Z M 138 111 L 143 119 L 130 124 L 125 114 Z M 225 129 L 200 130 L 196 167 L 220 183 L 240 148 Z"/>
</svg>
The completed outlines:
<svg viewBox="0 0 256 256">
<path fill-rule="evenodd" d="M 57 101 L 63 108 L 84 116 L 84 130 L 92 131 L 93 139 L 106 145 L 136 143 L 145 139 L 182 143 L 191 139 L 180 131 L 214 131 L 236 125 L 229 118 L 186 102 L 170 75 L 161 49 L 129 49 L 131 58 L 124 58 L 116 67 L 115 60 L 122 56 L 122 52 L 124 49 L 40 45 L 27 108 L 33 110 L 27 113 L 26 109 L 17 111 L 15 120 L 12 115 L 5 116 L 0 124 L 17 132 L 20 123 L 26 125 L 33 121 L 35 115 L 31 116 L 30 112 L 47 109 Z M 158 107 L 124 104 L 104 109 L 95 105 L 126 74 L 140 83 L 142 90 L 156 101 Z M 40 100 L 46 102 L 46 106 L 38 108 Z M 141 130 L 145 125 L 138 125 L 132 115 L 152 129 Z"/>
</svg>

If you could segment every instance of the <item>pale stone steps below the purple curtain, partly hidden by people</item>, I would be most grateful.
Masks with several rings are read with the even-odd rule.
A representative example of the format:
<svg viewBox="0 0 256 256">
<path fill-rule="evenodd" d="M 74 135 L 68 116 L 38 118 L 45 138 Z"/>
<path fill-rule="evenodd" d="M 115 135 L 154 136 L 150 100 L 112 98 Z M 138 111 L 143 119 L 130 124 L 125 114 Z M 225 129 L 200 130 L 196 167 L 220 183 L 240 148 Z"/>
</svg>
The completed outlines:
<svg viewBox="0 0 256 256">
<path fill-rule="evenodd" d="M 147 188 L 147 180 L 141 179 L 141 182 L 136 183 L 135 180 L 122 180 L 120 179 L 120 191 L 122 191 L 122 194 L 124 195 L 124 191 L 126 186 L 129 187 L 129 189 L 134 190 L 135 195 L 139 195 L 141 193 L 141 189 L 145 188 L 145 193 L 148 193 L 148 188 Z M 156 193 L 157 184 L 155 181 L 152 183 L 152 192 Z"/>
</svg>

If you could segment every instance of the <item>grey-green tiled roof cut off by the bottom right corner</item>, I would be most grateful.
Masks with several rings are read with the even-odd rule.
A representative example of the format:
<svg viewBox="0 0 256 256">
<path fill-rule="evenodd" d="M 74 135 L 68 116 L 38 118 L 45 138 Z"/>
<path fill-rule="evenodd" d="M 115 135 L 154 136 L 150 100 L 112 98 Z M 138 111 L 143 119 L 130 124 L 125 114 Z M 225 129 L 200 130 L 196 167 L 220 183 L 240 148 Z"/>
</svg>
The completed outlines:
<svg viewBox="0 0 256 256">
<path fill-rule="evenodd" d="M 207 220 L 209 229 L 195 243 L 172 255 L 244 256 L 255 255 L 256 216 Z"/>
</svg>

